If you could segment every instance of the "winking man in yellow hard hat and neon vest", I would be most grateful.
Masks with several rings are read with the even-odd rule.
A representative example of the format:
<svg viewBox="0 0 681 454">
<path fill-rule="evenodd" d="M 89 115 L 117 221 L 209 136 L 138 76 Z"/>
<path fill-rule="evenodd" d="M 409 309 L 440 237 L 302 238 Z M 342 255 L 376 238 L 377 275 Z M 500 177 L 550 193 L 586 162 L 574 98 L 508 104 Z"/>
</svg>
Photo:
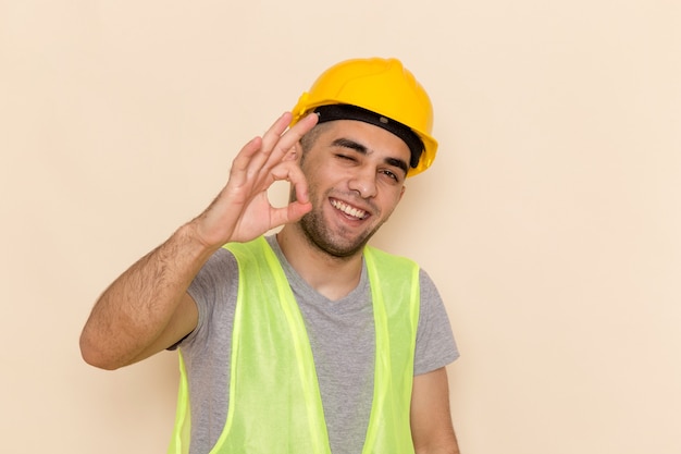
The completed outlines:
<svg viewBox="0 0 681 454">
<path fill-rule="evenodd" d="M 179 348 L 169 452 L 458 452 L 445 370 L 458 353 L 437 291 L 367 245 L 432 163 L 431 126 L 399 61 L 332 66 L 244 146 L 203 213 L 102 294 L 87 363 Z M 290 183 L 286 207 L 268 200 L 275 181 Z"/>
</svg>

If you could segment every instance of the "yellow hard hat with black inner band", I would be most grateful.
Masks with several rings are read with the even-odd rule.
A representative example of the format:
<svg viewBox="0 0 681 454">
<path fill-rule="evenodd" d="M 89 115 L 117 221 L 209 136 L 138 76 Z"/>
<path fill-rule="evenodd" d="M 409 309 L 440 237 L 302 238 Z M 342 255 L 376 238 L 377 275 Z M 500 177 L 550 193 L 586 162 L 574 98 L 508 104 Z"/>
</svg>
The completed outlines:
<svg viewBox="0 0 681 454">
<path fill-rule="evenodd" d="M 437 151 L 437 140 L 431 136 L 433 106 L 399 60 L 354 59 L 331 66 L 300 96 L 290 124 L 317 108 L 338 105 L 359 109 L 333 110 L 330 118 L 322 115 L 320 121 L 360 120 L 397 134 L 411 150 L 412 169 L 408 176 L 423 172 L 433 163 Z M 368 115 L 371 112 L 377 115 Z"/>
</svg>

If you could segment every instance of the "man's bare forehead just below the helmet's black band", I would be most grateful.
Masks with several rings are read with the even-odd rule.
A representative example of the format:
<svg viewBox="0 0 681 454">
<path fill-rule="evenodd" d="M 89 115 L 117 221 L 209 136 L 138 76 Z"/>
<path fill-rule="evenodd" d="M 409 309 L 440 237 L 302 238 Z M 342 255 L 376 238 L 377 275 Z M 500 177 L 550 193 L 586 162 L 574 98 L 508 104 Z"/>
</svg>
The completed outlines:
<svg viewBox="0 0 681 454">
<path fill-rule="evenodd" d="M 380 126 L 357 120 L 335 120 L 315 127 L 320 128 L 320 145 L 330 145 L 339 138 L 345 138 L 366 147 L 368 155 L 375 154 L 382 158 L 409 162 L 411 152 L 407 144 Z"/>
</svg>

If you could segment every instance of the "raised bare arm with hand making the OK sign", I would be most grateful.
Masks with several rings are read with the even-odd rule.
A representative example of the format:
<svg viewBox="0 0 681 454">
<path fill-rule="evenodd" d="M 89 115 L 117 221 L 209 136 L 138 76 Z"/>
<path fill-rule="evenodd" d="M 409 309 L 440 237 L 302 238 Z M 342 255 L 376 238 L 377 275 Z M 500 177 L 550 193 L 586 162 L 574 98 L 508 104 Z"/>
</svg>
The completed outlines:
<svg viewBox="0 0 681 454">
<path fill-rule="evenodd" d="M 116 369 L 179 341 L 196 328 L 196 304 L 186 291 L 210 256 L 225 243 L 250 241 L 310 210 L 307 183 L 289 151 L 314 126 L 317 115 L 286 131 L 290 118 L 285 113 L 244 146 L 226 186 L 206 211 L 104 291 L 81 334 L 88 364 Z M 267 191 L 282 180 L 292 183 L 297 200 L 274 208 Z"/>
</svg>

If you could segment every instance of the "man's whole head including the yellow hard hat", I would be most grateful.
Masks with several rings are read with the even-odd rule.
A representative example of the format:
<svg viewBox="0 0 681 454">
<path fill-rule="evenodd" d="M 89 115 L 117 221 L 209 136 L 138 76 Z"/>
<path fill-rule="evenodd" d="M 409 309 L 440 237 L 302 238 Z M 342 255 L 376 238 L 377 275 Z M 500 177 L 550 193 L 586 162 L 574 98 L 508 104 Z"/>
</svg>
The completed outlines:
<svg viewBox="0 0 681 454">
<path fill-rule="evenodd" d="M 405 180 L 432 163 L 428 95 L 397 60 L 339 63 L 323 73 L 294 109 L 318 125 L 298 157 L 312 211 L 298 223 L 310 243 L 335 257 L 360 253 L 392 214 Z"/>
</svg>

